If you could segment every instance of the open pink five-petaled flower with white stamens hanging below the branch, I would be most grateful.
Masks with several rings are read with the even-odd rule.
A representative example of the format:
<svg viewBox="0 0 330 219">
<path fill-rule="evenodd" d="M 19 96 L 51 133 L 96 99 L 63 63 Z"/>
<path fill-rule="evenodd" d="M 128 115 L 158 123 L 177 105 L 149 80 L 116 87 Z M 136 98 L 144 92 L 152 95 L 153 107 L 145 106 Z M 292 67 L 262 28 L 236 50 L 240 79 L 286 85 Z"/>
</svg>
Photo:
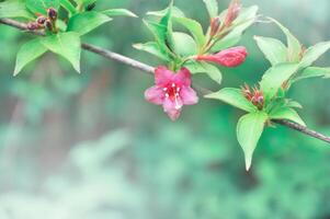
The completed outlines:
<svg viewBox="0 0 330 219">
<path fill-rule="evenodd" d="M 175 120 L 183 105 L 193 105 L 198 102 L 198 96 L 191 88 L 191 72 L 186 68 L 174 73 L 160 66 L 155 70 L 155 85 L 146 90 L 145 97 L 150 103 L 162 105 L 169 117 Z"/>
</svg>

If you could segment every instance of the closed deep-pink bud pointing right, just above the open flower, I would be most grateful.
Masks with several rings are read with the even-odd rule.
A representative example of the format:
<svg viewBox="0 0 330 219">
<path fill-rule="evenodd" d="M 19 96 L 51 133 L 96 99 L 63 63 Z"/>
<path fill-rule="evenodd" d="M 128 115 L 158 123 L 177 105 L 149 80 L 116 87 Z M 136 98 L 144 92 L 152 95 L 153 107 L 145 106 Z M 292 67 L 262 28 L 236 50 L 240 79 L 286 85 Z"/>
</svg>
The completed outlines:
<svg viewBox="0 0 330 219">
<path fill-rule="evenodd" d="M 214 55 L 201 55 L 196 57 L 196 60 L 213 61 L 225 67 L 237 67 L 246 61 L 247 56 L 247 49 L 239 46 L 221 50 Z"/>
</svg>

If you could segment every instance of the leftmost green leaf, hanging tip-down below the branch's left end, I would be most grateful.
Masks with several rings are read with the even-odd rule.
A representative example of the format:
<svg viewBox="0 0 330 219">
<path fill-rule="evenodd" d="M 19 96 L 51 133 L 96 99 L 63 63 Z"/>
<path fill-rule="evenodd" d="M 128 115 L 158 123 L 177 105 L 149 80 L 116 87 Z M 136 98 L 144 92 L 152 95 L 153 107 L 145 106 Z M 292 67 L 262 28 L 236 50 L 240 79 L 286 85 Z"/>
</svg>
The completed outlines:
<svg viewBox="0 0 330 219">
<path fill-rule="evenodd" d="M 14 76 L 18 76 L 24 66 L 38 58 L 46 51 L 47 48 L 41 43 L 39 38 L 35 38 L 24 44 L 20 48 L 16 56 Z"/>
</svg>

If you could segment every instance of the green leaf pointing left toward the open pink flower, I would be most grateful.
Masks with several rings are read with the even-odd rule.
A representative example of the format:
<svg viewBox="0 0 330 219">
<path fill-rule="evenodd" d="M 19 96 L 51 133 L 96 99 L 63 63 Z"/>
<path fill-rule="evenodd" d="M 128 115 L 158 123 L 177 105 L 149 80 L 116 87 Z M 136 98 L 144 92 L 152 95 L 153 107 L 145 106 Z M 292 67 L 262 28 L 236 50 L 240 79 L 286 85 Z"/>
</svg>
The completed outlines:
<svg viewBox="0 0 330 219">
<path fill-rule="evenodd" d="M 205 97 L 223 101 L 247 112 L 258 111 L 258 108 L 242 95 L 239 89 L 225 88 L 216 93 L 205 95 Z"/>
</svg>

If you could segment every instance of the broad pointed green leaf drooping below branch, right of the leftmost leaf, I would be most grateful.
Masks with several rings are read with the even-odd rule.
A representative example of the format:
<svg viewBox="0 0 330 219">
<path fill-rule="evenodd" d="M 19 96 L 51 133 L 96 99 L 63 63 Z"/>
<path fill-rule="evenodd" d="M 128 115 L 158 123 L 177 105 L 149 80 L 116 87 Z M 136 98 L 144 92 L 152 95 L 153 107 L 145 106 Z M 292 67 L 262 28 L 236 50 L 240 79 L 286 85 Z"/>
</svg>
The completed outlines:
<svg viewBox="0 0 330 219">
<path fill-rule="evenodd" d="M 42 44 L 55 54 L 66 58 L 80 72 L 81 43 L 79 34 L 75 32 L 58 33 L 42 38 Z"/>
</svg>

